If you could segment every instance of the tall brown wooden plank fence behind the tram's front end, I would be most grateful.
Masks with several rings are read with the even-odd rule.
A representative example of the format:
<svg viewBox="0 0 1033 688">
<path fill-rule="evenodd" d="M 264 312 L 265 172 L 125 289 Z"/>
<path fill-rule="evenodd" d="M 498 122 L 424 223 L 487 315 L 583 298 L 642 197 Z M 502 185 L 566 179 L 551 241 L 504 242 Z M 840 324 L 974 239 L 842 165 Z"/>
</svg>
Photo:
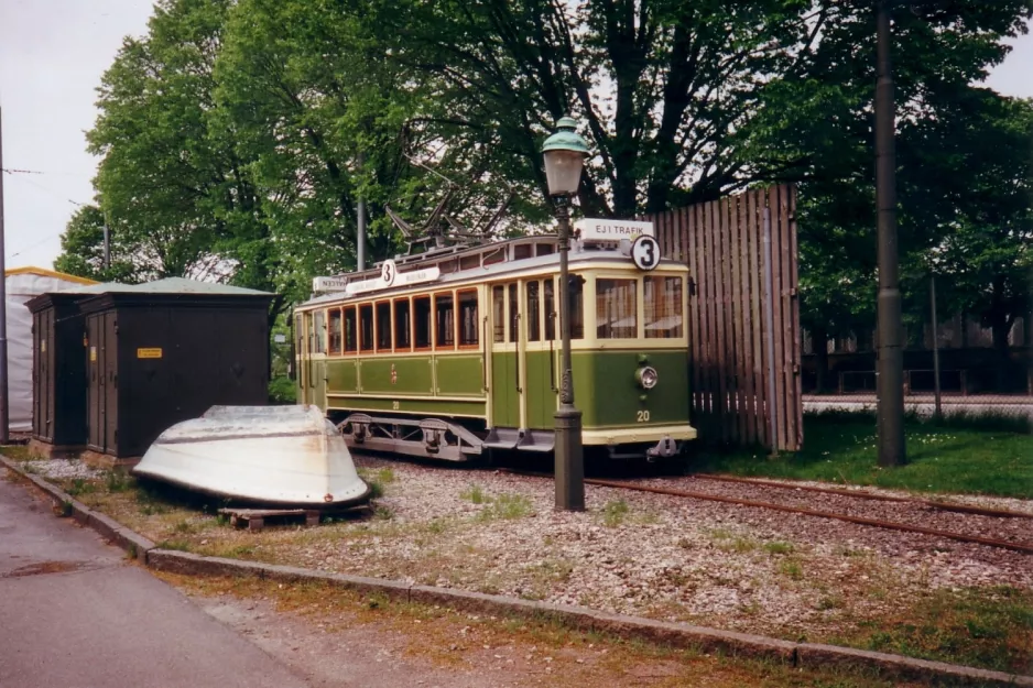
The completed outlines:
<svg viewBox="0 0 1033 688">
<path fill-rule="evenodd" d="M 704 440 L 803 445 L 795 210 L 796 188 L 781 185 L 643 218 L 692 271 L 689 384 Z"/>
</svg>

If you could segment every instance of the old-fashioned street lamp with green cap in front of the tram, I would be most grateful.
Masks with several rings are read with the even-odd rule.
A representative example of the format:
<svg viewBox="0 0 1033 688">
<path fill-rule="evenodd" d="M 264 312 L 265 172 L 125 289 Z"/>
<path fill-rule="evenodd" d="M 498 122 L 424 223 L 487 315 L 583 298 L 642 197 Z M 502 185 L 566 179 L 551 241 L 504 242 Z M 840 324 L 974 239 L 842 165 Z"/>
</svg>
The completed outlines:
<svg viewBox="0 0 1033 688">
<path fill-rule="evenodd" d="M 570 251 L 570 197 L 581 182 L 581 167 L 588 144 L 574 131 L 577 122 L 569 117 L 556 122 L 556 133 L 545 140 L 545 179 L 559 221 L 559 331 L 561 370 L 559 408 L 556 419 L 556 510 L 585 510 L 585 457 L 581 450 L 581 412 L 574 406 L 574 381 L 570 376 L 570 283 L 567 253 Z"/>
</svg>

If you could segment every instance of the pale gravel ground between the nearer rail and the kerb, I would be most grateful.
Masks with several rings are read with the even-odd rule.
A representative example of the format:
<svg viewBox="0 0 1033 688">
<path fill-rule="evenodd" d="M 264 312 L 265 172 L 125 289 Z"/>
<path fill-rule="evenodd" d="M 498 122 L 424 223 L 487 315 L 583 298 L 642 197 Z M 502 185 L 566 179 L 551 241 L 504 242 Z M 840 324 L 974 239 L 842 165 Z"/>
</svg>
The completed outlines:
<svg viewBox="0 0 1033 688">
<path fill-rule="evenodd" d="M 1029 556 L 925 535 L 590 485 L 588 511 L 563 513 L 550 480 L 357 463 L 393 473 L 381 520 L 301 540 L 270 531 L 252 556 L 782 636 L 884 619 L 940 588 L 1033 587 Z"/>
</svg>

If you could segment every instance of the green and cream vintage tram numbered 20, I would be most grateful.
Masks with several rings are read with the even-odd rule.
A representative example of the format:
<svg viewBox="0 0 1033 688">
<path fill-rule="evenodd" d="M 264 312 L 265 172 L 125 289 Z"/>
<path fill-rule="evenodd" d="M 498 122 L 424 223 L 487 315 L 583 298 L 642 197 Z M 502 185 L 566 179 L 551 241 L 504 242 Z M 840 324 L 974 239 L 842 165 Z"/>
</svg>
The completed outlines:
<svg viewBox="0 0 1033 688">
<path fill-rule="evenodd" d="M 586 456 L 666 458 L 696 437 L 688 269 L 643 271 L 630 253 L 627 240 L 573 242 L 575 403 Z M 298 403 L 323 408 L 352 448 L 454 461 L 551 452 L 558 272 L 557 238 L 539 236 L 317 277 L 335 291 L 294 314 Z"/>
</svg>

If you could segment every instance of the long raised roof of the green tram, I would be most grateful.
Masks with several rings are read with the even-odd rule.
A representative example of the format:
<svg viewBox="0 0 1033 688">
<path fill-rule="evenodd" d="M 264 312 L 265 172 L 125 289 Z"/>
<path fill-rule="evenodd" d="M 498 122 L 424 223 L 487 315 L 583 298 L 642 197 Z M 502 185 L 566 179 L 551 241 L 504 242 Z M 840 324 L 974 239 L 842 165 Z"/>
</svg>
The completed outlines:
<svg viewBox="0 0 1033 688">
<path fill-rule="evenodd" d="M 438 280 L 434 282 L 426 282 L 422 284 L 410 284 L 405 286 L 393 285 L 382 290 L 365 292 L 362 294 L 356 294 L 354 296 L 346 295 L 345 292 L 329 292 L 314 298 L 309 298 L 303 304 L 300 304 L 298 307 L 306 306 L 317 306 L 319 304 L 331 303 L 341 301 L 341 298 L 348 298 L 348 301 L 368 301 L 371 297 L 376 298 L 378 296 L 383 296 L 384 294 L 391 294 L 392 292 L 401 291 L 413 291 L 413 290 L 426 290 L 434 291 L 435 288 L 441 288 L 442 286 L 448 284 L 464 283 L 464 282 L 486 282 L 489 280 L 494 280 L 505 274 L 524 272 L 528 270 L 535 270 L 540 267 L 550 267 L 554 266 L 558 270 L 559 265 L 559 253 L 555 250 L 556 244 L 558 243 L 558 237 L 555 234 L 537 234 L 534 237 L 519 237 L 516 239 L 508 239 L 503 241 L 494 241 L 491 243 L 485 243 L 476 247 L 452 247 L 448 249 L 438 249 L 435 251 L 428 251 L 425 253 L 418 253 L 416 255 L 405 255 L 395 258 L 395 264 L 400 274 L 406 272 L 415 272 L 418 270 L 425 270 L 427 267 L 441 266 L 443 263 L 458 261 L 463 258 L 469 258 L 471 255 L 480 254 L 494 254 L 497 251 L 505 251 L 505 260 L 491 263 L 489 265 L 477 265 L 472 267 L 466 267 L 459 270 L 458 267 L 452 272 L 442 271 L 442 275 Z M 551 245 L 553 251 L 542 255 L 533 255 L 526 258 L 511 258 L 514 254 L 515 247 L 532 244 L 532 245 Z M 594 245 L 586 244 L 581 241 L 572 240 L 570 241 L 570 253 L 568 255 L 568 261 L 572 267 L 581 266 L 584 263 L 609 263 L 618 264 L 620 266 L 633 266 L 633 261 L 630 255 L 621 253 L 617 244 L 612 245 Z M 376 263 L 376 265 L 381 265 L 383 261 Z M 683 267 L 687 270 L 687 266 L 673 259 L 661 259 L 657 267 Z M 349 282 L 360 282 L 363 280 L 373 279 L 380 275 L 380 267 L 374 267 L 372 270 L 365 270 L 362 272 L 352 272 L 344 275 L 337 275 L 341 279 L 347 279 Z"/>
</svg>

